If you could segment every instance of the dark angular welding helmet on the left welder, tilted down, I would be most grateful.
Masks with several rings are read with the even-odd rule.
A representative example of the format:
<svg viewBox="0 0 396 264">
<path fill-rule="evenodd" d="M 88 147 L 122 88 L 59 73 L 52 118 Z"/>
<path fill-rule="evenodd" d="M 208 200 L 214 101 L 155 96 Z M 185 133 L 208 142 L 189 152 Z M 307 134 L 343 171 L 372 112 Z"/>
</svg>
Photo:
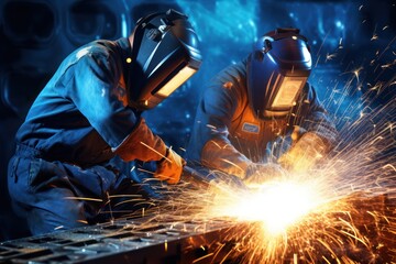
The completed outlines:
<svg viewBox="0 0 396 264">
<path fill-rule="evenodd" d="M 187 16 L 173 9 L 140 19 L 130 36 L 129 105 L 151 109 L 191 77 L 201 64 L 198 37 Z"/>
</svg>

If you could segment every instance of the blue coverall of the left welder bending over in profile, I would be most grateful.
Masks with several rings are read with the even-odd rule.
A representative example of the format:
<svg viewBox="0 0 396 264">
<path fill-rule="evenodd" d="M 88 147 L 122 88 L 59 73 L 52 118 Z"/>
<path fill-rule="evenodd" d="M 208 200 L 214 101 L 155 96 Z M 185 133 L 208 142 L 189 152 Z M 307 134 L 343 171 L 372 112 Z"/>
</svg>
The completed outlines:
<svg viewBox="0 0 396 264">
<path fill-rule="evenodd" d="M 145 139 L 158 153 L 166 150 L 141 112 L 128 107 L 130 53 L 125 37 L 95 41 L 72 53 L 19 129 L 8 185 L 15 210 L 33 234 L 95 222 L 109 197 L 116 199 L 112 195 L 141 195 L 141 204 L 147 198 L 109 163 L 116 155 L 124 161 L 161 160 L 140 144 Z"/>
</svg>

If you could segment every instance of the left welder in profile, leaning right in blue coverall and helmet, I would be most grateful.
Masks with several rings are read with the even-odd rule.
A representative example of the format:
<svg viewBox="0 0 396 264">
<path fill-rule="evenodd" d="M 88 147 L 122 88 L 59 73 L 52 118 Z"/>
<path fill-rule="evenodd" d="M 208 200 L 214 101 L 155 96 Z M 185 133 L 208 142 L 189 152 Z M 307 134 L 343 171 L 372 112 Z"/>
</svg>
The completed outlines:
<svg viewBox="0 0 396 264">
<path fill-rule="evenodd" d="M 19 129 L 9 162 L 10 196 L 33 234 L 103 220 L 116 197 L 140 208 L 132 200 L 150 197 L 111 163 L 116 156 L 153 162 L 154 177 L 178 183 L 183 158 L 141 114 L 198 70 L 197 45 L 188 18 L 168 10 L 139 20 L 129 37 L 94 41 L 64 59 Z"/>
</svg>

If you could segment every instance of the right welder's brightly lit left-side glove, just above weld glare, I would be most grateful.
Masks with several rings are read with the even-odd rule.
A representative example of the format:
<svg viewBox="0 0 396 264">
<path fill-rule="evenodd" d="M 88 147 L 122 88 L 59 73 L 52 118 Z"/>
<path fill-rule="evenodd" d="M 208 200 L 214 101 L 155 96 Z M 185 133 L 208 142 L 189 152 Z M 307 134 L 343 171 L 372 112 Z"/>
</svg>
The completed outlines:
<svg viewBox="0 0 396 264">
<path fill-rule="evenodd" d="M 248 187 L 257 187 L 265 182 L 279 178 L 286 175 L 286 172 L 276 163 L 252 163 L 248 166 L 243 183 Z"/>
</svg>

